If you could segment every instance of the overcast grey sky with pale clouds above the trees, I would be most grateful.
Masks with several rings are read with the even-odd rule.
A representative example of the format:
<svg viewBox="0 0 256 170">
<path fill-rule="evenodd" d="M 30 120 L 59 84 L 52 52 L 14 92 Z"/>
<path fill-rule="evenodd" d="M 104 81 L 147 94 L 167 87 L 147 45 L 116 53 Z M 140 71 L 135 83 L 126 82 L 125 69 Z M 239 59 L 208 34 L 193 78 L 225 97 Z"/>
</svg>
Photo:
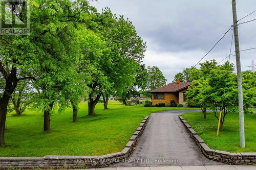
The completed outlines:
<svg viewBox="0 0 256 170">
<path fill-rule="evenodd" d="M 147 42 L 143 62 L 158 66 L 168 80 L 183 68 L 194 66 L 232 25 L 231 0 L 99 0 L 92 2 L 99 12 L 110 7 L 133 21 Z M 238 19 L 256 10 L 255 0 L 237 0 Z M 245 19 L 256 18 L 256 12 Z M 218 62 L 229 55 L 232 31 L 202 61 Z M 256 47 L 256 21 L 239 26 L 240 50 Z M 234 51 L 234 45 L 232 52 Z M 256 63 L 256 50 L 241 52 L 242 70 Z M 231 56 L 230 62 L 236 63 Z"/>
</svg>

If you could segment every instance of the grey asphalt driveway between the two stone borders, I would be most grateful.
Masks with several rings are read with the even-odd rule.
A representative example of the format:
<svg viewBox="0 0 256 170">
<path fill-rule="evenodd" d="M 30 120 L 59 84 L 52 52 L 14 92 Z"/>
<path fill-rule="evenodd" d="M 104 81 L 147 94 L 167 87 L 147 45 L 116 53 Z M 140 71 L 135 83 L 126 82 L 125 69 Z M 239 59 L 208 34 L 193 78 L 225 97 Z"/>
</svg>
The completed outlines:
<svg viewBox="0 0 256 170">
<path fill-rule="evenodd" d="M 113 166 L 223 165 L 205 158 L 180 122 L 179 114 L 195 111 L 200 110 L 162 111 L 151 114 L 129 160 Z"/>
</svg>

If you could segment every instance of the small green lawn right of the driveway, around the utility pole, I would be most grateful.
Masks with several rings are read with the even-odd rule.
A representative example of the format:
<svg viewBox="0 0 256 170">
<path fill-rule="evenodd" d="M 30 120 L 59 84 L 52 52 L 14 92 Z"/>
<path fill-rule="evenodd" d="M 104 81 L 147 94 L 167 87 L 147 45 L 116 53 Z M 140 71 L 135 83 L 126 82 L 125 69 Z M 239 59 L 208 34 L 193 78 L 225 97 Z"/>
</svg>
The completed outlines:
<svg viewBox="0 0 256 170">
<path fill-rule="evenodd" d="M 227 152 L 256 152 L 256 114 L 245 114 L 246 148 L 244 149 L 239 147 L 238 113 L 227 114 L 219 137 L 216 137 L 218 120 L 212 112 L 208 113 L 206 120 L 202 113 L 182 116 L 211 149 Z"/>
</svg>

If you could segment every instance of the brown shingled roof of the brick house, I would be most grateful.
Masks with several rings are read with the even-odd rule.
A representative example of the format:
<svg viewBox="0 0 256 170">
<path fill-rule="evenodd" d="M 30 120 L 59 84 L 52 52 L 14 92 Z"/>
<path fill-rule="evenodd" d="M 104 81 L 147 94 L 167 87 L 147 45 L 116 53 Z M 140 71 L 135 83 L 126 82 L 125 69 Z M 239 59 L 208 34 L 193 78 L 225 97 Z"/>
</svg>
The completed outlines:
<svg viewBox="0 0 256 170">
<path fill-rule="evenodd" d="M 177 84 L 176 82 L 174 82 L 174 83 L 167 84 L 163 87 L 159 87 L 150 92 L 178 92 L 180 90 L 183 90 L 184 88 L 187 88 L 191 84 L 192 84 L 191 82 L 180 82 L 180 84 Z"/>
</svg>

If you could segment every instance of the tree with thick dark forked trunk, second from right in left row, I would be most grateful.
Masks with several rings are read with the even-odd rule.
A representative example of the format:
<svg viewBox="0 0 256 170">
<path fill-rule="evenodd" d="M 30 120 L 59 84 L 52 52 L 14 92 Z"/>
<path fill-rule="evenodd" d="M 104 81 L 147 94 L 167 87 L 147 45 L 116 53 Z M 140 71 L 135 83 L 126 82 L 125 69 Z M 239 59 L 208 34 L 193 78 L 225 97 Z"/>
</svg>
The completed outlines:
<svg viewBox="0 0 256 170">
<path fill-rule="evenodd" d="M 111 67 L 110 51 L 100 34 L 87 28 L 80 30 L 81 54 L 79 64 L 80 74 L 90 76 L 90 81 L 84 82 L 89 87 L 88 114 L 94 115 L 102 89 L 108 90 L 112 83 L 108 81 L 106 69 Z"/>
</svg>

